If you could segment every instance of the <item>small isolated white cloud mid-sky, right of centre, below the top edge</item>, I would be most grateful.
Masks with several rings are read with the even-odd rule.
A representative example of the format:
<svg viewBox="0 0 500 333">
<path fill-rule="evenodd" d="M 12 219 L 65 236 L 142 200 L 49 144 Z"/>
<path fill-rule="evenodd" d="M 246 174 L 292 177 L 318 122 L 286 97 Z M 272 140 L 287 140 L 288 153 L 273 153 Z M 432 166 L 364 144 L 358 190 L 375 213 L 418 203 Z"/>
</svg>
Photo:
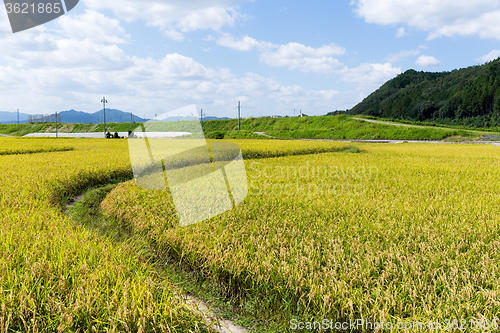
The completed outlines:
<svg viewBox="0 0 500 333">
<path fill-rule="evenodd" d="M 331 56 L 344 53 L 345 49 L 335 44 L 312 48 L 299 43 L 288 43 L 281 45 L 274 52 L 263 52 L 260 55 L 260 60 L 269 66 L 328 74 L 342 66 L 340 61 Z"/>
</svg>

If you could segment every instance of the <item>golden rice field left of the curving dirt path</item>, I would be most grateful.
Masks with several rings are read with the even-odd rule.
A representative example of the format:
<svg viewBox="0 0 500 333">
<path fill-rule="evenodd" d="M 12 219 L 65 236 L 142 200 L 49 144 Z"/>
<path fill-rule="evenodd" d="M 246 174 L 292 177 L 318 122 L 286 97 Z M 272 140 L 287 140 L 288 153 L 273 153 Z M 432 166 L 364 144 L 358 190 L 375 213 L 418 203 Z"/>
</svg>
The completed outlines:
<svg viewBox="0 0 500 333">
<path fill-rule="evenodd" d="M 212 332 L 147 253 L 73 222 L 64 197 L 130 179 L 126 141 L 0 138 L 1 332 Z"/>
</svg>

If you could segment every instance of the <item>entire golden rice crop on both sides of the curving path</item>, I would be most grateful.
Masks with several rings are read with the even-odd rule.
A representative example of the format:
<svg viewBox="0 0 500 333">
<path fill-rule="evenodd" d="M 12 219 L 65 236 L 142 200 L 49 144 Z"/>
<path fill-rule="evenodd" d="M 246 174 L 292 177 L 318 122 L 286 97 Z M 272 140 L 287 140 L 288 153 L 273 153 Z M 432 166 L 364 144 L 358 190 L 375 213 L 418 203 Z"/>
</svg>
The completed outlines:
<svg viewBox="0 0 500 333">
<path fill-rule="evenodd" d="M 0 151 L 32 140 L 0 138 Z M 0 330 L 209 332 L 147 253 L 62 212 L 132 177 L 127 141 L 36 140 L 72 150 L 0 156 Z M 179 227 L 168 191 L 126 181 L 103 211 L 278 332 L 323 319 L 480 332 L 500 317 L 498 147 L 231 142 L 249 186 L 234 210 Z"/>
</svg>

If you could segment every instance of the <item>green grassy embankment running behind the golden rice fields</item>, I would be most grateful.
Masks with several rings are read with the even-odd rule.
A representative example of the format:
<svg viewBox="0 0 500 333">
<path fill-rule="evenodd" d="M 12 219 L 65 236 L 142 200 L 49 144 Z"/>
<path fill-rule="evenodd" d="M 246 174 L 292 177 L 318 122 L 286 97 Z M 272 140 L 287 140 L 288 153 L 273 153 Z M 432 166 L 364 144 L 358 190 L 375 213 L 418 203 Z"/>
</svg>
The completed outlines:
<svg viewBox="0 0 500 333">
<path fill-rule="evenodd" d="M 380 139 L 380 140 L 442 140 L 460 137 L 463 140 L 479 138 L 482 133 L 456 128 L 410 128 L 367 123 L 348 116 L 294 117 L 294 118 L 247 118 L 241 120 L 210 120 L 203 122 L 207 138 L 265 139 L 254 132 L 265 132 L 278 138 L 293 139 Z M 140 124 L 135 124 L 139 126 Z M 176 126 L 178 127 L 178 126 Z M 109 123 L 109 132 L 127 132 L 130 124 Z M 54 132 L 54 124 L 0 125 L 0 133 L 25 135 L 36 132 Z M 64 124 L 61 132 L 101 132 L 103 125 Z"/>
</svg>

